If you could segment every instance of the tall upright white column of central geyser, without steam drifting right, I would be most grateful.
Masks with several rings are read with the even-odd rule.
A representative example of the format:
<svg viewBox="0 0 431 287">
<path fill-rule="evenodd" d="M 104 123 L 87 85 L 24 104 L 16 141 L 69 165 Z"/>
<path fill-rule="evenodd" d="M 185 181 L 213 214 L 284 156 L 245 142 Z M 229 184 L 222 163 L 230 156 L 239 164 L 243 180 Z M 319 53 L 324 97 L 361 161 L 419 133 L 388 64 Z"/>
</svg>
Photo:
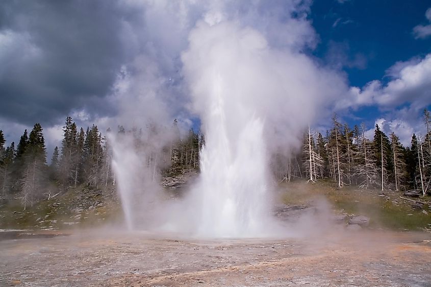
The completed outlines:
<svg viewBox="0 0 431 287">
<path fill-rule="evenodd" d="M 205 134 L 200 180 L 193 190 L 200 211 L 198 235 L 257 237 L 267 231 L 265 119 L 251 91 L 259 72 L 249 66 L 265 45 L 255 31 L 238 30 L 229 22 L 214 27 L 201 22 L 183 54 Z"/>
</svg>

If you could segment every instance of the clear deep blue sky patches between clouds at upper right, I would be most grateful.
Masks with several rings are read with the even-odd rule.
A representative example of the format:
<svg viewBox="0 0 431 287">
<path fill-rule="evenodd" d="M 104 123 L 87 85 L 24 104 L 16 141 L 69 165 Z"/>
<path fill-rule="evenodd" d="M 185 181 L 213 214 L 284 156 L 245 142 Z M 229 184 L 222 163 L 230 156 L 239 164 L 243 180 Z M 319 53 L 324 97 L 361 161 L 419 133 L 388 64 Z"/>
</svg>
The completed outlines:
<svg viewBox="0 0 431 287">
<path fill-rule="evenodd" d="M 429 1 L 314 1 L 309 17 L 320 42 L 311 53 L 326 64 L 335 62 L 351 86 L 362 88 L 373 80 L 386 84 L 391 81 L 387 70 L 395 63 L 431 53 L 431 36 L 417 38 L 414 33 L 414 27 L 430 24 L 425 17 L 430 7 Z M 428 109 L 429 102 L 425 105 Z M 389 111 L 378 105 L 362 106 L 346 114 L 344 120 L 350 125 L 364 122 L 372 128 L 376 119 L 409 105 L 406 101 Z M 410 121 L 420 125 L 420 120 Z"/>
</svg>

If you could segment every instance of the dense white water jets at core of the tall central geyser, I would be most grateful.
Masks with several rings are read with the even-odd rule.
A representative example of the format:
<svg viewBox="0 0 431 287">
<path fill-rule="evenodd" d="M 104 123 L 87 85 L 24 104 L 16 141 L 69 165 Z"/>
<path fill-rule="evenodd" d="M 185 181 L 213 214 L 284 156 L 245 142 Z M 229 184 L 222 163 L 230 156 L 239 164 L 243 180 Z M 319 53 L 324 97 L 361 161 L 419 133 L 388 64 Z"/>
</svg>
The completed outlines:
<svg viewBox="0 0 431 287">
<path fill-rule="evenodd" d="M 238 130 L 226 121 L 227 87 L 215 81 L 209 94 L 206 144 L 201 151 L 198 234 L 217 237 L 257 236 L 264 230 L 267 209 L 267 164 L 263 120 L 245 112 Z M 237 103 L 240 104 L 240 103 Z"/>
</svg>

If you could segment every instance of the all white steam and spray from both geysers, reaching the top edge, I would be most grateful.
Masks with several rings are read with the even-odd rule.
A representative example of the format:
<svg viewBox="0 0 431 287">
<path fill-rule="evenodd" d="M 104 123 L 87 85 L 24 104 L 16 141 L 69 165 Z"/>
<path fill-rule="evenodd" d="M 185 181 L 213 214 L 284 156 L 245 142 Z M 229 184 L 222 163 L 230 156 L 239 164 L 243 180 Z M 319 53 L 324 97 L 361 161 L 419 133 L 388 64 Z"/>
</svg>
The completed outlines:
<svg viewBox="0 0 431 287">
<path fill-rule="evenodd" d="M 136 172 L 147 170 L 136 158 L 147 158 L 151 152 L 140 154 L 131 139 L 114 139 L 120 194 L 125 205 L 131 205 L 131 198 L 158 204 L 153 210 L 165 216 L 153 216 L 159 220 L 154 225 L 171 231 L 262 236 L 270 232 L 270 155 L 298 147 L 304 128 L 347 88 L 342 77 L 319 67 L 303 52 L 315 43 L 314 31 L 306 19 L 308 5 L 292 1 L 265 6 L 257 2 L 246 7 L 217 2 L 204 7 L 201 10 L 206 13 L 190 25 L 191 30 L 183 26 L 181 33 L 188 35 L 188 47 L 175 45 L 181 47 L 178 56 L 184 81 L 174 77 L 181 81 L 172 85 L 158 72 L 163 63 L 143 57 L 148 68 L 140 69 L 142 62 L 137 59 L 133 79 L 120 78 L 117 90 L 125 118 L 135 118 L 133 125 L 156 119 L 167 126 L 173 115 L 180 115 L 180 122 L 188 123 L 181 117 L 187 114 L 185 110 L 199 116 L 206 136 L 200 179 L 183 202 L 175 206 L 155 203 L 154 197 L 146 197 L 148 192 L 141 194 L 140 190 L 157 187 L 146 184 L 148 177 Z M 276 12 L 281 7 L 296 16 L 281 19 Z M 200 11 L 195 6 L 193 9 Z M 187 15 L 186 22 L 193 22 L 195 14 Z M 174 97 L 174 92 L 188 92 L 190 98 Z M 131 97 L 137 101 L 130 101 Z M 172 99 L 182 104 L 177 101 L 172 105 Z M 154 146 L 172 140 L 166 132 L 153 139 Z M 125 210 L 133 227 L 133 208 L 126 206 Z"/>
</svg>

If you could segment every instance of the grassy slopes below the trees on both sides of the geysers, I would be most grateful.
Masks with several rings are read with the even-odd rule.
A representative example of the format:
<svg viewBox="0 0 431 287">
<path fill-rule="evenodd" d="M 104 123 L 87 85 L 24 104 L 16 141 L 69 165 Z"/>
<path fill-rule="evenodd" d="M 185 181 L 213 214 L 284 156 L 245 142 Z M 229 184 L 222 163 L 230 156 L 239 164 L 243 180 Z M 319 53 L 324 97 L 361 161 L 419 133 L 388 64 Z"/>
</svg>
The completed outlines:
<svg viewBox="0 0 431 287">
<path fill-rule="evenodd" d="M 369 217 L 372 228 L 395 230 L 423 230 L 431 228 L 431 197 L 420 198 L 425 202 L 422 210 L 412 209 L 412 202 L 399 198 L 401 193 L 385 191 L 386 200 L 378 197 L 379 190 L 361 191 L 346 186 L 337 189 L 331 181 L 321 180 L 315 184 L 294 181 L 280 185 L 286 204 L 310 204 L 314 200 L 326 199 L 336 213 L 348 213 Z M 397 202 L 395 202 L 396 200 Z M 76 209 L 81 211 L 77 212 Z M 411 215 L 408 215 L 411 214 Z M 38 220 L 39 219 L 39 220 Z M 33 207 L 22 210 L 20 202 L 13 201 L 0 206 L 0 228 L 60 228 L 89 227 L 104 222 L 119 222 L 122 212 L 115 190 L 69 189 L 50 200 L 43 200 Z M 69 225 L 69 223 L 73 223 Z"/>
</svg>

